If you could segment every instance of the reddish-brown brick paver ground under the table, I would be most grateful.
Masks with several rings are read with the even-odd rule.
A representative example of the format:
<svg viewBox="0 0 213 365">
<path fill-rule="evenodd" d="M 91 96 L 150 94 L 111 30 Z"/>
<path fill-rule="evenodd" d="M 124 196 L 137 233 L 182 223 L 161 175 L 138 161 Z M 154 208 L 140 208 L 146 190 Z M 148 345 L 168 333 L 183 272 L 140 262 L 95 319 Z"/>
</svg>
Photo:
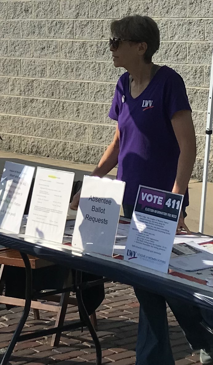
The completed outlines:
<svg viewBox="0 0 213 365">
<path fill-rule="evenodd" d="M 106 283 L 106 297 L 97 310 L 98 336 L 102 345 L 103 364 L 131 365 L 135 362 L 135 345 L 139 305 L 133 289 L 128 285 Z M 20 307 L 6 310 L 0 305 L 0 353 L 9 344 L 19 318 Z M 168 308 L 170 338 L 176 365 L 200 364 L 199 355 L 191 354 L 178 323 Z M 35 320 L 33 311 L 24 331 L 47 328 L 54 325 L 55 313 L 40 311 L 40 320 Z M 154 315 L 154 314 L 153 314 Z M 77 307 L 69 306 L 66 321 L 78 319 Z M 19 342 L 11 357 L 11 365 L 95 365 L 95 349 L 87 330 L 65 332 L 58 347 L 50 346 L 51 336 Z M 157 365 L 157 364 L 153 364 Z"/>
</svg>

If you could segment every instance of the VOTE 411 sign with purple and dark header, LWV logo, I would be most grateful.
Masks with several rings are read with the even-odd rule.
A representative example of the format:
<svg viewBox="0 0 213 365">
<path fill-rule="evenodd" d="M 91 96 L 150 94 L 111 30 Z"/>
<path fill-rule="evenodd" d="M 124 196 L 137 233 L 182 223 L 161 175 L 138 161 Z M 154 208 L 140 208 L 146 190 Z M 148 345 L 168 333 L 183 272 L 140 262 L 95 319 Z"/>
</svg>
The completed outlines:
<svg viewBox="0 0 213 365">
<path fill-rule="evenodd" d="M 183 195 L 139 186 L 124 260 L 168 272 Z"/>
</svg>

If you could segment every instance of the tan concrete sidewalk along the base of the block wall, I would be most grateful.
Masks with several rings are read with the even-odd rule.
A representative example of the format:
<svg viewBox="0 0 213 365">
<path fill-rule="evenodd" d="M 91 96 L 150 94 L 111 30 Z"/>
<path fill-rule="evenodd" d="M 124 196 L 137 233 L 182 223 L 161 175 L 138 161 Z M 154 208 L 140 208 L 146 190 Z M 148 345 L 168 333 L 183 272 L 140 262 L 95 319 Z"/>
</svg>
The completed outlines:
<svg viewBox="0 0 213 365">
<path fill-rule="evenodd" d="M 52 158 L 0 152 L 0 174 L 6 160 L 17 162 L 19 164 L 70 170 L 75 172 L 75 180 L 82 180 L 84 174 L 90 174 L 94 169 L 94 165 L 75 164 L 70 161 L 53 160 Z M 113 169 L 108 176 L 115 178 L 116 169 Z M 198 232 L 199 230 L 201 191 L 202 183 L 196 180 L 191 180 L 189 184 L 190 206 L 187 208 L 188 216 L 186 218 L 186 224 L 189 229 L 194 232 Z M 213 235 L 213 183 L 208 183 L 204 233 Z"/>
</svg>

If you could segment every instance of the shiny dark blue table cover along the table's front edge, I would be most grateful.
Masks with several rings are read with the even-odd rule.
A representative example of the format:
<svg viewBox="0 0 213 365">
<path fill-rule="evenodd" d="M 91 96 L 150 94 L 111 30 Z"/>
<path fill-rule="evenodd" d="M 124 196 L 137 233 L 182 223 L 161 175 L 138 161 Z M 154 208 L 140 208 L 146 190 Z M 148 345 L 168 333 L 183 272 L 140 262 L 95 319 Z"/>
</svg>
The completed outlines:
<svg viewBox="0 0 213 365">
<path fill-rule="evenodd" d="M 30 240 L 29 240 L 30 241 Z M 50 242 L 51 243 L 51 242 Z M 175 297 L 195 304 L 203 309 L 213 311 L 213 287 L 193 287 L 180 281 L 172 280 L 171 275 L 161 277 L 156 273 L 138 270 L 134 267 L 125 266 L 118 260 L 107 261 L 104 257 L 94 257 L 89 254 L 73 254 L 66 245 L 47 245 L 40 241 L 28 242 L 17 235 L 8 235 L 0 232 L 0 245 L 18 250 L 56 264 L 65 265 L 69 268 L 82 270 L 99 276 L 104 276 L 112 281 L 141 287 L 159 295 Z"/>
</svg>

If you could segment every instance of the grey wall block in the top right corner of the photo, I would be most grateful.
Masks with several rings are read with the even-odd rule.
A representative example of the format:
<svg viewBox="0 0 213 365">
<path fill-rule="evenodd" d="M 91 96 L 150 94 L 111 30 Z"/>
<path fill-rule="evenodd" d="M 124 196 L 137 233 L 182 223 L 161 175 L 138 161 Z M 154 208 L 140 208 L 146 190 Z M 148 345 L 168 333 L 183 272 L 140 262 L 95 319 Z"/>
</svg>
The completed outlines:
<svg viewBox="0 0 213 365">
<path fill-rule="evenodd" d="M 199 11 L 198 11 L 199 9 Z M 212 0 L 189 0 L 188 16 L 194 18 L 212 18 L 213 17 L 213 2 Z"/>
</svg>

